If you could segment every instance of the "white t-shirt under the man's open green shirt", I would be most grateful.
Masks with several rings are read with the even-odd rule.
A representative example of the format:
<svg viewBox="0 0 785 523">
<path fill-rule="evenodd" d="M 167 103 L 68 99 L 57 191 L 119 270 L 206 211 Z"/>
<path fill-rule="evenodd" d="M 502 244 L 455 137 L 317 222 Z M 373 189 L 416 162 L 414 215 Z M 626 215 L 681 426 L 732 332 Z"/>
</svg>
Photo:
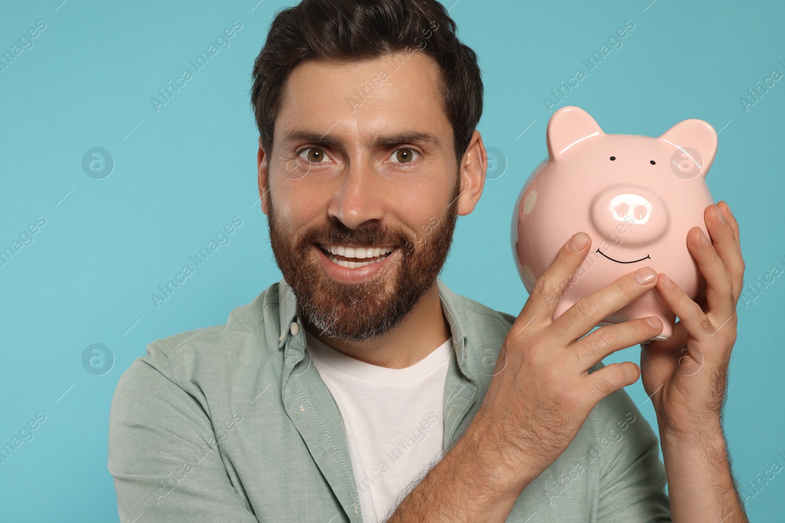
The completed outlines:
<svg viewBox="0 0 785 523">
<path fill-rule="evenodd" d="M 341 413 L 365 523 L 392 503 L 444 448 L 444 383 L 452 338 L 414 365 L 389 369 L 305 337 L 319 376 Z"/>
</svg>

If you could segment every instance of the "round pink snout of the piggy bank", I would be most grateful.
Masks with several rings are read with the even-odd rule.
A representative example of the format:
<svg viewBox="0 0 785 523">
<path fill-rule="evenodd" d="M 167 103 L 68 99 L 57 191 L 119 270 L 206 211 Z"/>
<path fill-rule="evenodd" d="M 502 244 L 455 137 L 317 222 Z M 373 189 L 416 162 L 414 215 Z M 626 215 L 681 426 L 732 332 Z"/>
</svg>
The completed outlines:
<svg viewBox="0 0 785 523">
<path fill-rule="evenodd" d="M 668 227 L 668 209 L 655 193 L 634 185 L 610 187 L 594 198 L 591 218 L 597 231 L 614 244 L 650 245 Z"/>
</svg>

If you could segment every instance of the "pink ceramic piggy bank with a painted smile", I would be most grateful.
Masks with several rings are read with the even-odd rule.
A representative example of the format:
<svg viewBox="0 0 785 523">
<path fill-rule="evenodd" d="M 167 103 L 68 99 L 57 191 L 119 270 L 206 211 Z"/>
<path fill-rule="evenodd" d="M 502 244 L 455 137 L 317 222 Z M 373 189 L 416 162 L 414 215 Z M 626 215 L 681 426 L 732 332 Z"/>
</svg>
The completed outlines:
<svg viewBox="0 0 785 523">
<path fill-rule="evenodd" d="M 714 203 L 706 175 L 717 153 L 717 133 L 702 120 L 685 120 L 662 136 L 603 133 L 579 107 L 562 107 L 548 122 L 548 158 L 529 176 L 513 212 L 511 241 L 520 278 L 531 294 L 559 249 L 579 231 L 591 249 L 575 274 L 560 282 L 564 295 L 555 320 L 582 296 L 648 265 L 695 299 L 706 285 L 687 248 Z M 656 316 L 667 340 L 675 314 L 655 289 L 597 324 Z"/>
</svg>

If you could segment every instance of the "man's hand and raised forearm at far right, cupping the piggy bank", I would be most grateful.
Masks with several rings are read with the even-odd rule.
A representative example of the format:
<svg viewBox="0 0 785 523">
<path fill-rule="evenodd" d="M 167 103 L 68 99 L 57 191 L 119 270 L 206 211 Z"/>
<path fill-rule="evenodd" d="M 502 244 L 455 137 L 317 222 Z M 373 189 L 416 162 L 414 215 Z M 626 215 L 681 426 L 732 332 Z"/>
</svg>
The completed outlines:
<svg viewBox="0 0 785 523">
<path fill-rule="evenodd" d="M 744 260 L 728 204 L 709 205 L 703 217 L 711 241 L 693 227 L 687 246 L 706 289 L 693 301 L 659 274 L 655 289 L 679 321 L 668 340 L 641 345 L 643 386 L 657 413 L 672 521 L 740 523 L 749 520 L 731 475 L 721 412 Z"/>
</svg>

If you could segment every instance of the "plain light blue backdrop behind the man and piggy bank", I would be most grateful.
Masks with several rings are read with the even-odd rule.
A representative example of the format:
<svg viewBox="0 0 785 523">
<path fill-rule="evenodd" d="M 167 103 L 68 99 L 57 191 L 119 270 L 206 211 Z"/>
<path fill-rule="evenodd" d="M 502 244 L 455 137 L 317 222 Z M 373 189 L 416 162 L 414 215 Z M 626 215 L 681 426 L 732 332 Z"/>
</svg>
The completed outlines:
<svg viewBox="0 0 785 523">
<path fill-rule="evenodd" d="M 451 8 L 484 71 L 480 132 L 508 163 L 503 175 L 491 169 L 476 211 L 458 222 L 443 273 L 456 292 L 520 311 L 527 293 L 509 219 L 546 156 L 543 98 L 626 20 L 635 28 L 623 46 L 558 107 L 586 109 L 607 133 L 658 136 L 686 118 L 710 122 L 721 133 L 707 180 L 741 224 L 746 284 L 785 268 L 785 80 L 748 111 L 739 101 L 773 69 L 785 73 L 783 4 L 650 1 L 460 0 Z M 4 0 L 0 8 L 2 53 L 37 20 L 46 23 L 32 49 L 0 71 L 0 248 L 36 216 L 46 219 L 33 244 L 0 268 L 0 444 L 36 412 L 46 415 L 35 438 L 0 465 L 0 519 L 118 521 L 107 430 L 120 374 L 147 343 L 222 324 L 280 278 L 257 204 L 248 91 L 273 13 L 289 4 L 60 2 Z M 151 97 L 233 20 L 243 28 L 230 47 L 156 113 Z M 115 159 L 104 180 L 82 172 L 91 147 Z M 243 225 L 231 242 L 156 309 L 150 294 L 232 216 Z M 785 278 L 757 297 L 744 294 L 755 299 L 739 302 L 725 429 L 736 477 L 750 491 L 747 481 L 774 460 L 785 465 L 777 455 L 785 453 Z M 115 356 L 103 376 L 82 367 L 91 343 Z M 637 361 L 639 350 L 605 361 Z M 640 382 L 627 390 L 655 425 Z M 780 520 L 783 494 L 777 474 L 750 499 L 750 519 Z"/>
</svg>

